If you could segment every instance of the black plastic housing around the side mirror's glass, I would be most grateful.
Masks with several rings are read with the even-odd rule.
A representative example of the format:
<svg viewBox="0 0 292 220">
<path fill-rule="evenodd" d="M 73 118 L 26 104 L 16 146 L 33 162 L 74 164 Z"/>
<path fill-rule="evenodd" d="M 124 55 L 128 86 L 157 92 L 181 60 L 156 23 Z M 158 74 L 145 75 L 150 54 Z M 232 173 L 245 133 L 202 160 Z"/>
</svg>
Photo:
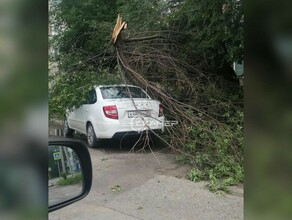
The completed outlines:
<svg viewBox="0 0 292 220">
<path fill-rule="evenodd" d="M 70 205 L 74 202 L 77 202 L 80 199 L 83 199 L 89 193 L 92 184 L 92 165 L 91 165 L 91 158 L 87 147 L 81 142 L 73 139 L 68 138 L 50 138 L 49 139 L 49 147 L 50 146 L 64 146 L 71 148 L 75 154 L 79 158 L 79 162 L 81 165 L 82 173 L 83 173 L 83 187 L 80 194 L 74 196 L 73 198 L 69 198 L 56 204 L 49 205 L 48 211 L 52 212 L 63 208 L 67 205 Z"/>
</svg>

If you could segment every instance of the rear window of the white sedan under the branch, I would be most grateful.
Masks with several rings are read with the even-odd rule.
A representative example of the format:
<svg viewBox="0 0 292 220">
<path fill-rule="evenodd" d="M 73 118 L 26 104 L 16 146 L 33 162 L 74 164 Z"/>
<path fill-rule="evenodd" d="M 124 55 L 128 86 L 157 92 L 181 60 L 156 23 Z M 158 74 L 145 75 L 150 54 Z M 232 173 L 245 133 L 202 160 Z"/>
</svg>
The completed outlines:
<svg viewBox="0 0 292 220">
<path fill-rule="evenodd" d="M 139 87 L 128 87 L 133 98 L 148 98 L 146 93 Z M 130 98 L 126 86 L 113 86 L 100 88 L 103 99 Z"/>
</svg>

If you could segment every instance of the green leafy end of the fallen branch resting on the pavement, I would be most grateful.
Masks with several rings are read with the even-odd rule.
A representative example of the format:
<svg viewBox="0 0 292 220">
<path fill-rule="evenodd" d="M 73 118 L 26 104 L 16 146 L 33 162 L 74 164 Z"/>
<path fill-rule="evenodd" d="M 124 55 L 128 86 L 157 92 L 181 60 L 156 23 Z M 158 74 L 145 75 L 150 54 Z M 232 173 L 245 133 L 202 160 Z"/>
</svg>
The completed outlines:
<svg viewBox="0 0 292 220">
<path fill-rule="evenodd" d="M 243 112 L 237 110 L 234 115 L 228 116 L 228 121 L 229 125 L 216 129 L 207 122 L 198 128 L 191 127 L 190 140 L 185 148 L 191 155 L 189 161 L 194 165 L 188 177 L 192 181 L 210 180 L 208 187 L 212 191 L 227 191 L 228 186 L 244 179 Z"/>
</svg>

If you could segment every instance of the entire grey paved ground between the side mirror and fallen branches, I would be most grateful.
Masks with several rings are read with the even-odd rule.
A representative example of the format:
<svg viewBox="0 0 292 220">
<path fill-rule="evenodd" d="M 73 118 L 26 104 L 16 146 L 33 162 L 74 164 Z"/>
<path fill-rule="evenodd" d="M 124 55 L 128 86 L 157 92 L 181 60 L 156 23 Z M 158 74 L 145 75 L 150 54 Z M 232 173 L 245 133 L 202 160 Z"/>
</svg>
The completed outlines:
<svg viewBox="0 0 292 220">
<path fill-rule="evenodd" d="M 153 148 L 131 153 L 132 143 L 89 149 L 93 183 L 89 195 L 49 214 L 66 219 L 243 219 L 243 188 L 232 194 L 208 191 L 206 183 L 185 179 L 189 170 L 175 154 Z"/>
</svg>

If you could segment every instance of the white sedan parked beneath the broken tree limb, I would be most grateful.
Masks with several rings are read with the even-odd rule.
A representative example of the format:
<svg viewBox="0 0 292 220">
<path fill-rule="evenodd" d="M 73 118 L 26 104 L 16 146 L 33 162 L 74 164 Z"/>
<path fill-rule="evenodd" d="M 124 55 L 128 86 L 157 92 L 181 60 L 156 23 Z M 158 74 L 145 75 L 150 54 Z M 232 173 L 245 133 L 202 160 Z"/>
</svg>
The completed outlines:
<svg viewBox="0 0 292 220">
<path fill-rule="evenodd" d="M 67 111 L 65 136 L 74 131 L 87 135 L 90 147 L 100 139 L 140 134 L 146 130 L 163 132 L 163 107 L 143 89 L 133 85 L 95 86 L 87 104 Z"/>
</svg>

